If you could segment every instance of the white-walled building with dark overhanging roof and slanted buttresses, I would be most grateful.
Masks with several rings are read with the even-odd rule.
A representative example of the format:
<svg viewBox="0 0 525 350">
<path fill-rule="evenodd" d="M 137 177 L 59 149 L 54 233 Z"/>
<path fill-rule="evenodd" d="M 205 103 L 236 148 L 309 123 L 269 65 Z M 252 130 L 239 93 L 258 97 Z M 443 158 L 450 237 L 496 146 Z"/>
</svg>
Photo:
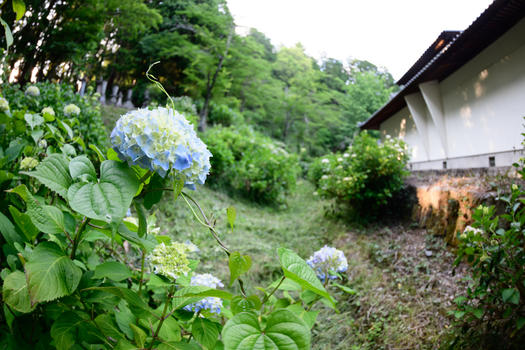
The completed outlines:
<svg viewBox="0 0 525 350">
<path fill-rule="evenodd" d="M 444 31 L 362 129 L 400 136 L 411 169 L 510 166 L 525 133 L 525 2 L 496 0 L 464 31 Z"/>
</svg>

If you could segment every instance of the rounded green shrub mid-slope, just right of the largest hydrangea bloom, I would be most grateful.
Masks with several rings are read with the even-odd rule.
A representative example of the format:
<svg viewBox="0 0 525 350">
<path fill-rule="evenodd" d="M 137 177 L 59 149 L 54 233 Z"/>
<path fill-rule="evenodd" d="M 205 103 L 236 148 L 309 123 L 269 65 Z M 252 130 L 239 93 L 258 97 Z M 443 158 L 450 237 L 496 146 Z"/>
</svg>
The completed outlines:
<svg viewBox="0 0 525 350">
<path fill-rule="evenodd" d="M 284 203 L 301 169 L 298 156 L 250 126 L 221 126 L 203 137 L 213 157 L 211 178 L 257 201 Z"/>
</svg>

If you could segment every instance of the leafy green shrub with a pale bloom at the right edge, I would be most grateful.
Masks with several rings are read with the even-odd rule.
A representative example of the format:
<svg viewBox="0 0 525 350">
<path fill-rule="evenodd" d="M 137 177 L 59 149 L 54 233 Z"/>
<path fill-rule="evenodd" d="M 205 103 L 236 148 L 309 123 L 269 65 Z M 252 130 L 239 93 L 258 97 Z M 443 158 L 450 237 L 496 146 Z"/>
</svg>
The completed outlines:
<svg viewBox="0 0 525 350">
<path fill-rule="evenodd" d="M 450 313 L 464 330 L 481 330 L 487 348 L 491 345 L 485 342 L 497 346 L 502 337 L 512 338 L 525 325 L 524 196 L 523 188 L 513 184 L 509 196 L 499 196 L 507 204 L 506 214 L 495 215 L 494 206 L 479 206 L 472 214 L 474 223 L 462 234 L 457 232 L 454 264 L 466 258 L 472 277 L 465 278 L 470 285 L 454 300 L 457 310 Z"/>
</svg>

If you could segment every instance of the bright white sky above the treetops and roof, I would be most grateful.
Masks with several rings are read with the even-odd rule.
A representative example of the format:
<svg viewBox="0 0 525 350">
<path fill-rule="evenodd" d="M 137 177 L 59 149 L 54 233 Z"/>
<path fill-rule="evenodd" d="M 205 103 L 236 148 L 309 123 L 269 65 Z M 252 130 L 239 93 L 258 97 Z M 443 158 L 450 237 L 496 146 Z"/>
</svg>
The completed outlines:
<svg viewBox="0 0 525 350">
<path fill-rule="evenodd" d="M 235 23 L 274 45 L 343 62 L 363 59 L 400 79 L 443 30 L 464 30 L 492 0 L 228 0 Z M 241 29 L 241 28 L 238 28 Z"/>
</svg>

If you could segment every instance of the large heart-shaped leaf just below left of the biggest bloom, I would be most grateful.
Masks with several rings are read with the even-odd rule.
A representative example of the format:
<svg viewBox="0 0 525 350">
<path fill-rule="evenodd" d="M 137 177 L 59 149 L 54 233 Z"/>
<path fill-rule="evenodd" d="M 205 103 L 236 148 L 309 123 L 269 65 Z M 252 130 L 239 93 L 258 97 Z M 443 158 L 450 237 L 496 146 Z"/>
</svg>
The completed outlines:
<svg viewBox="0 0 525 350">
<path fill-rule="evenodd" d="M 110 225 L 112 240 L 122 218 L 139 188 L 139 179 L 128 164 L 104 161 L 100 165 L 100 181 L 81 182 L 68 189 L 71 209 L 88 218 Z"/>
</svg>

